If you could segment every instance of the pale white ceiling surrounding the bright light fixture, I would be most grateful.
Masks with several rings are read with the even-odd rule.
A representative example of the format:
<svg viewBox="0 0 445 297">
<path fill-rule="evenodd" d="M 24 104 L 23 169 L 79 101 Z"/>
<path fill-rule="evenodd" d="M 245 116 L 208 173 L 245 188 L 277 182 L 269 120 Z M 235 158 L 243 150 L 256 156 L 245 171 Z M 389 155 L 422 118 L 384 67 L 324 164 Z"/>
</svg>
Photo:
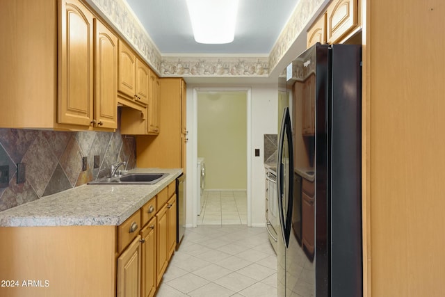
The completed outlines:
<svg viewBox="0 0 445 297">
<path fill-rule="evenodd" d="M 267 55 L 299 0 L 240 0 L 234 42 L 195 42 L 185 0 L 127 0 L 161 54 Z"/>
</svg>

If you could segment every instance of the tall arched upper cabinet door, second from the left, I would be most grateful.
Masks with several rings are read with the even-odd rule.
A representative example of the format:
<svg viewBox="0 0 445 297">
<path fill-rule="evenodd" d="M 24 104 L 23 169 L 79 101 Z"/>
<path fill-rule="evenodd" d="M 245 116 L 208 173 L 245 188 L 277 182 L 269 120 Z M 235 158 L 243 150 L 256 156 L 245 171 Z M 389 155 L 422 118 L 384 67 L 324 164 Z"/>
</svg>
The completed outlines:
<svg viewBox="0 0 445 297">
<path fill-rule="evenodd" d="M 118 38 L 95 19 L 95 126 L 118 127 Z"/>
</svg>

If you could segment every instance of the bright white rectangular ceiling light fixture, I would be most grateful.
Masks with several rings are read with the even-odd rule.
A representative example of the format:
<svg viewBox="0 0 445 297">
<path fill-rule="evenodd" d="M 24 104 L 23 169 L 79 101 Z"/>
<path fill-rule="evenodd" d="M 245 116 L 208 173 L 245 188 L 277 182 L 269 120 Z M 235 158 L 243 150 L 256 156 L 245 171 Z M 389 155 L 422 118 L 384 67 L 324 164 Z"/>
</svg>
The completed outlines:
<svg viewBox="0 0 445 297">
<path fill-rule="evenodd" d="M 222 44 L 234 41 L 238 0 L 186 0 L 195 41 Z"/>
</svg>

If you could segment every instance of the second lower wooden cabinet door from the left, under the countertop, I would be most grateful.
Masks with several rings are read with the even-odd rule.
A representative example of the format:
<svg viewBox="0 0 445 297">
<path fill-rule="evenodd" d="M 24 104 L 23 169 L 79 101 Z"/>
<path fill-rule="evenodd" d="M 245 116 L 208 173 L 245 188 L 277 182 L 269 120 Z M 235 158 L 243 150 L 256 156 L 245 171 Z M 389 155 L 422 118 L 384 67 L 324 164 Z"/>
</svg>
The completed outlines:
<svg viewBox="0 0 445 297">
<path fill-rule="evenodd" d="M 142 236 L 141 286 L 142 297 L 152 297 L 156 291 L 156 218 L 140 231 Z"/>
</svg>

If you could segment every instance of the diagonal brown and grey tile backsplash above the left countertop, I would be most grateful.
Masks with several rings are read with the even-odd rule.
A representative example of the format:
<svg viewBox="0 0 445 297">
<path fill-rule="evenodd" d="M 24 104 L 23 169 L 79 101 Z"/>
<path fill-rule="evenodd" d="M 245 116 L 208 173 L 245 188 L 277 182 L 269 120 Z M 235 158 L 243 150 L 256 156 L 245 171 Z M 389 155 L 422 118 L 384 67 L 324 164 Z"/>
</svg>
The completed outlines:
<svg viewBox="0 0 445 297">
<path fill-rule="evenodd" d="M 82 171 L 82 157 L 88 166 Z M 99 156 L 99 168 L 94 168 Z M 9 166 L 9 186 L 0 188 L 0 211 L 81 186 L 110 174 L 112 163 L 127 161 L 136 168 L 136 141 L 100 131 L 0 129 L 0 166 Z M 25 163 L 26 181 L 17 184 L 17 163 Z"/>
</svg>

